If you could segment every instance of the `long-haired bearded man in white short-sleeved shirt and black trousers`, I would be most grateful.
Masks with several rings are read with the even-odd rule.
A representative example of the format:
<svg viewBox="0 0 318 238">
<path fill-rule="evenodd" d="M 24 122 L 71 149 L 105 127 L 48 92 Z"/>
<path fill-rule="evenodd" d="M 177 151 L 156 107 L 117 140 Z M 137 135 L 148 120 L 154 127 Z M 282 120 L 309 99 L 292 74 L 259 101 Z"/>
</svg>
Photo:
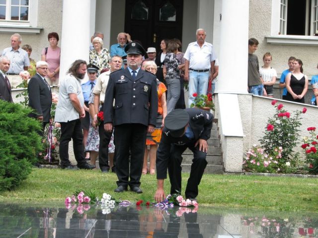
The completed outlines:
<svg viewBox="0 0 318 238">
<path fill-rule="evenodd" d="M 85 117 L 84 98 L 80 80 L 86 73 L 86 61 L 75 60 L 68 75 L 60 82 L 59 102 L 56 107 L 55 121 L 61 123 L 60 159 L 62 169 L 75 169 L 69 160 L 69 142 L 73 139 L 75 159 L 79 169 L 94 169 L 85 161 L 83 132 L 80 119 Z"/>
</svg>

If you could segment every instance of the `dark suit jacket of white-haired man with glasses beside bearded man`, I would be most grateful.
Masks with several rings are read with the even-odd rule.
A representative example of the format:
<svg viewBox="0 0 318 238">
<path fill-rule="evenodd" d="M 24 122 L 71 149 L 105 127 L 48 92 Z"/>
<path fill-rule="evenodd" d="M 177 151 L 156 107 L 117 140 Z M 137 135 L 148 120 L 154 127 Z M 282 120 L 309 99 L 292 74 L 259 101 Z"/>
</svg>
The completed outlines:
<svg viewBox="0 0 318 238">
<path fill-rule="evenodd" d="M 44 82 L 39 74 L 35 74 L 28 84 L 29 93 L 29 107 L 35 110 L 29 116 L 31 118 L 37 118 L 43 116 L 44 122 L 49 122 L 51 105 L 52 105 L 52 93 L 51 89 Z"/>
</svg>

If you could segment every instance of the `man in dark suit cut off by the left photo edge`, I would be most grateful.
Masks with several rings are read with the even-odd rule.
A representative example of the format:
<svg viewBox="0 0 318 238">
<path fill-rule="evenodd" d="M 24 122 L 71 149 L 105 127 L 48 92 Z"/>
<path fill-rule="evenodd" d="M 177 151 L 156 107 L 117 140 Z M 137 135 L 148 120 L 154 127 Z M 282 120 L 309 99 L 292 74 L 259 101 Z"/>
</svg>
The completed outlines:
<svg viewBox="0 0 318 238">
<path fill-rule="evenodd" d="M 6 56 L 0 57 L 0 100 L 12 103 L 11 85 L 5 73 L 9 70 L 10 60 Z"/>
</svg>

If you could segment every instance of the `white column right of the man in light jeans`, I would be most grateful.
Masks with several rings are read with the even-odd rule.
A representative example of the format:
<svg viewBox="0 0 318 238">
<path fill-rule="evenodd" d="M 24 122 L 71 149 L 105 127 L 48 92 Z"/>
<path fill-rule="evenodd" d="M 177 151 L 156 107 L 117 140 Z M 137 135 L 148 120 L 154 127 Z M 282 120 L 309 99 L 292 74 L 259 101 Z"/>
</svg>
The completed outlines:
<svg viewBox="0 0 318 238">
<path fill-rule="evenodd" d="M 249 0 L 222 1 L 216 93 L 247 93 Z"/>
</svg>

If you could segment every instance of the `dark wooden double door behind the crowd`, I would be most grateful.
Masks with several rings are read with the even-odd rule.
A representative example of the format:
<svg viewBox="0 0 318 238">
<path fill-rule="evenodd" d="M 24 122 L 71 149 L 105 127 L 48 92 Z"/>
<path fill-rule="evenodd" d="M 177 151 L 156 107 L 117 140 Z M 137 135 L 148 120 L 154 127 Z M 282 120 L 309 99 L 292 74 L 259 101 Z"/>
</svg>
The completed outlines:
<svg viewBox="0 0 318 238">
<path fill-rule="evenodd" d="M 156 47 L 164 38 L 182 40 L 183 0 L 126 0 L 125 32 L 143 47 Z"/>
</svg>

